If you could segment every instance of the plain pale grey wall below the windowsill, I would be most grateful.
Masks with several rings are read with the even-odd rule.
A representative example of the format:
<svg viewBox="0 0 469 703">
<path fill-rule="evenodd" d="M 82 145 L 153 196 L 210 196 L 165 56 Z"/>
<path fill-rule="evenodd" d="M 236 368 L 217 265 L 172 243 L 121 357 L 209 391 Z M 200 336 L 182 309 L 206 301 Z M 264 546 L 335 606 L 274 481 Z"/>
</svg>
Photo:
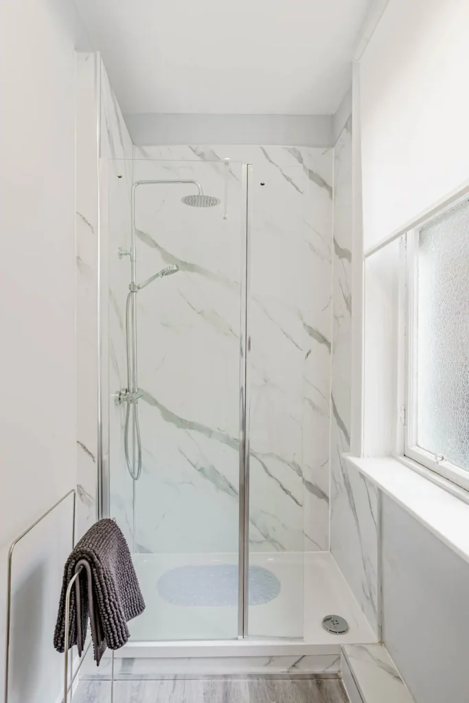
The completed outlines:
<svg viewBox="0 0 469 703">
<path fill-rule="evenodd" d="M 467 703 L 469 566 L 383 496 L 383 636 L 416 703 Z"/>
</svg>

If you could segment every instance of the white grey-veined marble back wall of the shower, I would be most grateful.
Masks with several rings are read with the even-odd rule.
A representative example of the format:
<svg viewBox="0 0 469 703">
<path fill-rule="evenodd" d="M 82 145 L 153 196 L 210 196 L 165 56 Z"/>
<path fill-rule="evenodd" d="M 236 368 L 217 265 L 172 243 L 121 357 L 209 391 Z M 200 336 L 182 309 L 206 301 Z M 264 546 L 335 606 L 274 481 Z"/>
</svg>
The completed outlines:
<svg viewBox="0 0 469 703">
<path fill-rule="evenodd" d="M 134 180 L 195 178 L 221 200 L 225 167 L 217 161 L 231 159 L 225 221 L 221 207 L 181 206 L 188 186 L 142 188 L 136 200 L 137 278 L 169 263 L 181 267 L 139 293 L 139 385 L 146 396 L 139 404 L 136 550 L 236 550 L 241 162 L 253 164 L 251 546 L 328 548 L 332 154 L 135 149 Z M 120 185 L 113 184 L 112 202 L 122 200 Z M 125 278 L 128 264 L 119 265 Z M 122 311 L 127 283 L 120 285 Z M 121 470 L 118 461 L 112 466 Z M 112 470 L 113 501 L 128 522 L 124 479 L 117 486 Z"/>
</svg>

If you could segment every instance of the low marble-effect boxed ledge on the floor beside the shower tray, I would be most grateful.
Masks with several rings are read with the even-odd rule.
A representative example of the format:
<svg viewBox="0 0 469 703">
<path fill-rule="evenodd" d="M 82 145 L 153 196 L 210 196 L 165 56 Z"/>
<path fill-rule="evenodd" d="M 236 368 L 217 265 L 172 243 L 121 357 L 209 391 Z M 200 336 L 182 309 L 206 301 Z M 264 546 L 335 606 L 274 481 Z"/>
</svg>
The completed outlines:
<svg viewBox="0 0 469 703">
<path fill-rule="evenodd" d="M 413 703 L 383 645 L 345 645 L 342 652 L 364 703 Z"/>
</svg>

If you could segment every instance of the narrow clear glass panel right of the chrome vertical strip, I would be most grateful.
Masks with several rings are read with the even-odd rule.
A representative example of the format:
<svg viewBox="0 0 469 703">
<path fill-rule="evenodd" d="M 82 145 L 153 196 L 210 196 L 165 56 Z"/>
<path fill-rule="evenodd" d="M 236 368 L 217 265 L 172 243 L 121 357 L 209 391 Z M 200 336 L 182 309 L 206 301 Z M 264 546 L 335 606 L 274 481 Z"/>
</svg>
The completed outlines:
<svg viewBox="0 0 469 703">
<path fill-rule="evenodd" d="M 252 166 L 248 633 L 256 637 L 303 636 L 307 193 L 301 166 Z"/>
</svg>

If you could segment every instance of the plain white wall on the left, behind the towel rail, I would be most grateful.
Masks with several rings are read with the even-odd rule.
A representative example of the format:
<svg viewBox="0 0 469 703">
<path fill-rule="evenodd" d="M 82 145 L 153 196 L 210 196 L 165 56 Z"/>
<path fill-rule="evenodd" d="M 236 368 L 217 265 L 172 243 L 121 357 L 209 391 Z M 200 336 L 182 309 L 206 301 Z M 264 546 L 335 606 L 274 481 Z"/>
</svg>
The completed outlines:
<svg viewBox="0 0 469 703">
<path fill-rule="evenodd" d="M 76 483 L 76 31 L 69 1 L 1 3 L 2 679 L 6 547 Z M 13 638 L 11 701 L 53 701 L 60 690 L 52 636 L 70 503 L 58 515 L 15 555 L 13 626 L 23 617 L 24 636 Z"/>
</svg>

